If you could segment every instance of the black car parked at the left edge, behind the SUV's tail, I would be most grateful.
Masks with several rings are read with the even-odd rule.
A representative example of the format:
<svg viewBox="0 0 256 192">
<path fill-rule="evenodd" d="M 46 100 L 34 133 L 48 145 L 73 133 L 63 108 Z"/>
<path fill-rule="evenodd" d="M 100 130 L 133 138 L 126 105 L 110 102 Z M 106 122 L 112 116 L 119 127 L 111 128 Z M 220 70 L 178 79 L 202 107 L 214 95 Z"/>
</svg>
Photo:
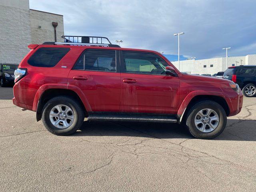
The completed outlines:
<svg viewBox="0 0 256 192">
<path fill-rule="evenodd" d="M 18 64 L 0 64 L 0 85 L 2 87 L 14 85 L 14 71 Z"/>
</svg>

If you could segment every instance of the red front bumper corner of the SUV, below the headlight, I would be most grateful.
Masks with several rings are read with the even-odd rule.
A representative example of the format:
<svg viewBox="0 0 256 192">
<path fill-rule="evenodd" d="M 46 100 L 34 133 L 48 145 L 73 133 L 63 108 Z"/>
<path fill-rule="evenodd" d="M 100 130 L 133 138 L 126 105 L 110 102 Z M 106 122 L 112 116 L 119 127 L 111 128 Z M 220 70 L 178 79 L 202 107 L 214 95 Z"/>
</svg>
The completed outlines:
<svg viewBox="0 0 256 192">
<path fill-rule="evenodd" d="M 242 94 L 242 91 L 240 91 L 236 97 L 227 99 L 228 106 L 230 109 L 230 113 L 228 116 L 234 116 L 240 113 L 243 106 L 243 99 L 244 99 L 244 96 Z"/>
</svg>

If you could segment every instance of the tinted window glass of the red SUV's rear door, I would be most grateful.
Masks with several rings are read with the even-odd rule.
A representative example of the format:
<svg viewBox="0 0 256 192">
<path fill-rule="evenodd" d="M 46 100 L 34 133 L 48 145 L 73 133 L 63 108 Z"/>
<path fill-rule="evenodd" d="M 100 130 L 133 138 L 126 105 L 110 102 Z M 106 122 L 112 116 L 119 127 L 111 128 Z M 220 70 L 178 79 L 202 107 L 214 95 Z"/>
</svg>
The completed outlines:
<svg viewBox="0 0 256 192">
<path fill-rule="evenodd" d="M 86 50 L 76 62 L 74 69 L 116 72 L 116 51 Z"/>
</svg>

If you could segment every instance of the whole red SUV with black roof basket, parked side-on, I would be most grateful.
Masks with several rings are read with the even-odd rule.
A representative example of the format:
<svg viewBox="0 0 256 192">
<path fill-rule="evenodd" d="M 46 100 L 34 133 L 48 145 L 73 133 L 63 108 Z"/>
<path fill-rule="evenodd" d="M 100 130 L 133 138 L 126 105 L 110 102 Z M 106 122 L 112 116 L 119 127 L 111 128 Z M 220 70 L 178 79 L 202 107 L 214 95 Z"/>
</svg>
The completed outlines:
<svg viewBox="0 0 256 192">
<path fill-rule="evenodd" d="M 121 48 L 103 37 L 63 38 L 29 45 L 13 88 L 13 103 L 35 111 L 53 134 L 72 134 L 88 118 L 182 123 L 209 139 L 242 108 L 237 84 L 182 74 L 159 52 Z"/>
</svg>

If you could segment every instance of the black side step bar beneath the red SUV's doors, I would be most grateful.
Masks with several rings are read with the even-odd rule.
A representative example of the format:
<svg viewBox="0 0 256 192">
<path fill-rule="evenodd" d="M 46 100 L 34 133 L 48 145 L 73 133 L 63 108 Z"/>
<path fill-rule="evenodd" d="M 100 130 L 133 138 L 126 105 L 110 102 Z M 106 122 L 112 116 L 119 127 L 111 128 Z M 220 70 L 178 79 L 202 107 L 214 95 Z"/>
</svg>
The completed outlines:
<svg viewBox="0 0 256 192">
<path fill-rule="evenodd" d="M 89 114 L 90 121 L 133 121 L 133 122 L 166 122 L 176 123 L 177 119 L 173 116 L 157 115 L 116 115 L 116 114 Z"/>
</svg>

